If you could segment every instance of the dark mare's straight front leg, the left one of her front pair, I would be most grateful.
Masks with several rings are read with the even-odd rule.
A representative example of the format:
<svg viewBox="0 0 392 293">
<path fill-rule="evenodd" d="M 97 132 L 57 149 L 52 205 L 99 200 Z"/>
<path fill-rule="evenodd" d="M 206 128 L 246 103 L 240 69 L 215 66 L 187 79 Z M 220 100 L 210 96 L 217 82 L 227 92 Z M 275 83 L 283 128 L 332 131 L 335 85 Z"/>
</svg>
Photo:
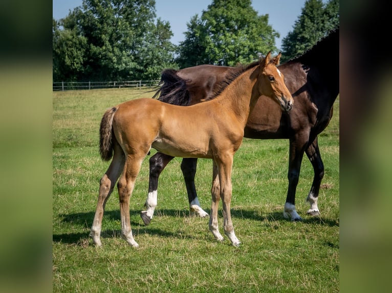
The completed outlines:
<svg viewBox="0 0 392 293">
<path fill-rule="evenodd" d="M 295 209 L 295 192 L 298 185 L 299 173 L 301 170 L 301 163 L 303 158 L 303 153 L 306 148 L 306 142 L 302 142 L 304 137 L 308 138 L 309 133 L 297 134 L 293 139 L 290 139 L 290 151 L 289 151 L 289 187 L 287 190 L 287 198 L 285 203 L 285 208 L 283 215 L 285 218 L 291 217 L 291 221 L 302 221 Z"/>
</svg>

